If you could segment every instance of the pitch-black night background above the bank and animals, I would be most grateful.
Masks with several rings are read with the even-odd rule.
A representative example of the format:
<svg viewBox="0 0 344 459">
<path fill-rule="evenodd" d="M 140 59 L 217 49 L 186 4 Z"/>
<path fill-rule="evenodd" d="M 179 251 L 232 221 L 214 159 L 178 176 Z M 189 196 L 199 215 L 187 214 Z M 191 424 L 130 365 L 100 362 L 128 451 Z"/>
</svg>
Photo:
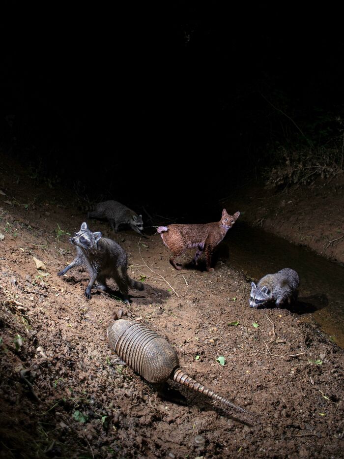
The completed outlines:
<svg viewBox="0 0 344 459">
<path fill-rule="evenodd" d="M 147 3 L 2 2 L 0 145 L 32 177 L 206 219 L 279 147 L 337 138 L 335 3 Z"/>
</svg>

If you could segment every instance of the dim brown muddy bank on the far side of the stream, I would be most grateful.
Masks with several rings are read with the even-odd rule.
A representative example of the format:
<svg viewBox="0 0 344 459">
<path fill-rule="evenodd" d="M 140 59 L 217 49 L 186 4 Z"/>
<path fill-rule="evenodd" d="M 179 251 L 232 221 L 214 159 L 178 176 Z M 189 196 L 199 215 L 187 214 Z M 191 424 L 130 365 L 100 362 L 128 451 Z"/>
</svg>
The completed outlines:
<svg viewBox="0 0 344 459">
<path fill-rule="evenodd" d="M 344 177 L 285 190 L 248 183 L 221 200 L 242 221 L 344 263 Z"/>
</svg>

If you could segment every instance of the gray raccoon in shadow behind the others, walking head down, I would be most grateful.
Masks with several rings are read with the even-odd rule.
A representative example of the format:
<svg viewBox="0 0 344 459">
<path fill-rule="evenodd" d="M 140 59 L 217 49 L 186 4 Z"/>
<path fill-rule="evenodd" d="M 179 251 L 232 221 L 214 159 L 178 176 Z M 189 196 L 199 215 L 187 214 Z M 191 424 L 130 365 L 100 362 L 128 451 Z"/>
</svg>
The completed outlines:
<svg viewBox="0 0 344 459">
<path fill-rule="evenodd" d="M 111 228 L 117 233 L 120 225 L 128 225 L 139 234 L 143 231 L 142 215 L 117 201 L 104 201 L 86 208 L 87 218 L 107 218 Z"/>
</svg>

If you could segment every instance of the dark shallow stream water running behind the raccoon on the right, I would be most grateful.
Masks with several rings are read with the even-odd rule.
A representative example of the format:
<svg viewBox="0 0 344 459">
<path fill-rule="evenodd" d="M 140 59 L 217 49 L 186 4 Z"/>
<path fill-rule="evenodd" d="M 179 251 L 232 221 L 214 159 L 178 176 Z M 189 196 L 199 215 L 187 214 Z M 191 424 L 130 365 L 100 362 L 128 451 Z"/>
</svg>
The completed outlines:
<svg viewBox="0 0 344 459">
<path fill-rule="evenodd" d="M 304 307 L 307 311 L 301 314 L 301 320 L 313 319 L 334 342 L 344 348 L 342 265 L 245 223 L 236 222 L 224 244 L 229 250 L 230 266 L 254 281 L 283 268 L 297 271 L 300 277 L 298 308 Z"/>
</svg>

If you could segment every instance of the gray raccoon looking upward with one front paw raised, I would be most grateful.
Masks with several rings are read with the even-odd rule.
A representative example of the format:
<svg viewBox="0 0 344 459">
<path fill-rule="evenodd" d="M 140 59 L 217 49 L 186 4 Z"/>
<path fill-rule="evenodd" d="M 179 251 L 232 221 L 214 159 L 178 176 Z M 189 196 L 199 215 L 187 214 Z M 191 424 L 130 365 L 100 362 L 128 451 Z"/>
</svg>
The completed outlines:
<svg viewBox="0 0 344 459">
<path fill-rule="evenodd" d="M 84 265 L 90 275 L 85 295 L 91 298 L 91 288 L 107 291 L 106 280 L 115 279 L 118 288 L 123 295 L 124 303 L 129 303 L 128 288 L 143 290 L 142 282 L 131 279 L 127 274 L 128 257 L 125 250 L 111 239 L 102 238 L 102 233 L 92 233 L 87 228 L 86 222 L 81 225 L 80 231 L 70 238 L 75 245 L 77 256 L 57 275 L 64 275 L 75 266 Z"/>
</svg>

